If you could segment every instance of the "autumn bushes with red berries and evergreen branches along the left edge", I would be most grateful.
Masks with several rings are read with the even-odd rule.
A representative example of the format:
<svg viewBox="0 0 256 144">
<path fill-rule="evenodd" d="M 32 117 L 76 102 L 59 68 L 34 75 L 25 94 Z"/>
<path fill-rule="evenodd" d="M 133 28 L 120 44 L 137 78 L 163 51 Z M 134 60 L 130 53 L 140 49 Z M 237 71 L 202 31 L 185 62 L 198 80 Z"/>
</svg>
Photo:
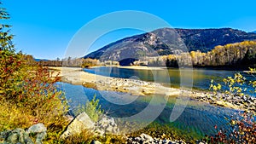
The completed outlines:
<svg viewBox="0 0 256 144">
<path fill-rule="evenodd" d="M 0 6 L 0 19 L 5 22 L 9 14 Z M 49 137 L 57 139 L 67 123 L 64 93 L 55 84 L 58 78 L 51 78 L 47 68 L 29 65 L 32 55 L 16 53 L 10 26 L 0 26 L 0 131 L 43 123 L 50 126 Z M 6 143 L 3 138 L 1 142 Z"/>
</svg>

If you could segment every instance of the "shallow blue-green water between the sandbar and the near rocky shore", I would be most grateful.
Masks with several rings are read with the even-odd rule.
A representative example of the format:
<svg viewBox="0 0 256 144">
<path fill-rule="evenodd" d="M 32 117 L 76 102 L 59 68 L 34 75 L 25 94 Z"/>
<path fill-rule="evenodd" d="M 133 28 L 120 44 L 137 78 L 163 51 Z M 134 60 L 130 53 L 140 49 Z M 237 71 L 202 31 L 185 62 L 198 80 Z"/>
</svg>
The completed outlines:
<svg viewBox="0 0 256 144">
<path fill-rule="evenodd" d="M 197 135 L 215 134 L 215 124 L 219 128 L 227 127 L 228 120 L 225 118 L 230 118 L 236 112 L 229 108 L 214 107 L 204 102 L 189 100 L 187 105 L 186 102 L 182 102 L 176 106 L 182 109 L 183 112 L 174 122 L 170 122 L 170 116 L 177 101 L 176 97 L 165 99 L 165 104 L 165 102 L 161 101 L 164 99 L 160 95 L 156 95 L 155 97 L 134 96 L 111 91 L 88 89 L 80 85 L 59 84 L 61 85 L 61 89 L 66 92 L 67 100 L 71 100 L 69 105 L 72 110 L 75 110 L 79 105 L 84 105 L 86 101 L 91 100 L 96 95 L 96 98 L 100 100 L 102 109 L 108 112 L 108 116 L 110 117 L 132 119 L 133 116 L 138 115 L 136 118 L 139 121 L 149 123 L 151 120 L 154 120 L 158 124 L 167 124 L 170 129 L 177 128 Z M 154 98 L 155 100 L 160 100 L 160 102 L 154 101 Z M 160 109 L 162 106 L 164 106 L 163 109 Z M 148 112 L 141 114 L 148 107 L 151 110 L 149 109 Z M 159 112 L 155 111 L 157 108 L 159 108 Z M 153 117 L 148 115 L 152 115 Z M 155 119 L 148 119 L 154 117 Z M 143 128 L 145 125 L 141 125 L 141 127 Z"/>
</svg>

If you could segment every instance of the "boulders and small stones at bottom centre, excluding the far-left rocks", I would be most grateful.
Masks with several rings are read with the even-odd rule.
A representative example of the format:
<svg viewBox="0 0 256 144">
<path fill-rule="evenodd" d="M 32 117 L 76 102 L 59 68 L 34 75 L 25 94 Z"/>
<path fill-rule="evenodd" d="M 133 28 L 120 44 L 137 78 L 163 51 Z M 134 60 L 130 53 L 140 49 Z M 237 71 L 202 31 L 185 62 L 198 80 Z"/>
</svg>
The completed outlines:
<svg viewBox="0 0 256 144">
<path fill-rule="evenodd" d="M 67 130 L 63 132 L 60 138 L 65 140 L 70 136 L 79 135 L 84 130 L 89 130 L 95 136 L 104 136 L 106 134 L 122 135 L 127 144 L 186 144 L 182 140 L 173 140 L 172 137 L 165 139 L 153 138 L 144 133 L 139 136 L 127 136 L 119 132 L 119 126 L 115 123 L 114 118 L 108 118 L 108 116 L 103 115 L 97 122 L 93 122 L 85 112 L 73 118 L 67 126 Z M 92 141 L 91 143 L 101 144 L 102 142 Z M 203 144 L 204 142 L 197 141 L 197 143 Z"/>
</svg>

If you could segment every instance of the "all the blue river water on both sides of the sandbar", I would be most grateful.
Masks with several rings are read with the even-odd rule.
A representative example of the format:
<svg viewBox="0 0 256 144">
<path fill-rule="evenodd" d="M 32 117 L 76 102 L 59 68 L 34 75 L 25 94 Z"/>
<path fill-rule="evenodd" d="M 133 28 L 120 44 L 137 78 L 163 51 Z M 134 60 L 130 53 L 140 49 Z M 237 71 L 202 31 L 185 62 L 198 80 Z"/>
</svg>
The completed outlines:
<svg viewBox="0 0 256 144">
<path fill-rule="evenodd" d="M 154 77 L 152 72 L 149 70 L 132 70 L 117 67 L 100 67 L 97 69 L 84 69 L 85 72 L 96 73 L 97 75 L 103 75 L 113 78 L 131 78 L 136 77 L 144 81 L 154 82 Z M 161 70 L 158 71 L 158 77 L 161 77 Z M 170 69 L 168 70 L 170 75 L 171 85 L 173 87 L 178 87 L 180 84 L 179 73 L 180 71 L 188 70 L 178 70 Z M 195 89 L 208 89 L 211 79 L 214 79 L 218 83 L 222 82 L 223 78 L 233 76 L 235 71 L 217 71 L 217 70 L 203 70 L 194 69 L 193 74 L 193 88 Z M 248 79 L 253 78 L 249 75 L 243 73 Z M 148 107 L 148 103 L 152 101 L 152 96 L 134 96 L 125 95 L 123 93 L 118 93 L 119 95 L 125 95 L 125 102 L 123 98 L 115 96 L 117 92 L 111 91 L 98 91 L 96 89 L 84 88 L 81 85 L 63 84 L 60 83 L 61 89 L 65 90 L 67 100 L 69 100 L 69 105 L 74 111 L 79 105 L 84 105 L 86 101 L 92 100 L 93 96 L 100 100 L 100 105 L 108 115 L 113 118 L 129 118 L 132 115 L 142 112 L 143 109 Z M 102 95 L 103 94 L 103 95 Z M 160 96 L 160 95 L 155 95 Z M 217 132 L 214 129 L 215 125 L 218 128 L 227 128 L 229 123 L 229 118 L 234 113 L 238 111 L 225 108 L 225 107 L 214 107 L 205 102 L 189 100 L 188 105 L 184 105 L 183 113 L 177 118 L 176 121 L 170 122 L 170 115 L 172 109 L 176 103 L 176 97 L 169 97 L 166 103 L 166 107 L 162 112 L 158 113 L 158 117 L 154 120 L 158 124 L 168 125 L 170 129 L 177 128 L 183 130 L 187 133 L 193 133 L 196 135 L 212 135 Z M 113 101 L 121 101 L 119 102 Z M 142 118 L 143 119 L 143 118 Z"/>
</svg>

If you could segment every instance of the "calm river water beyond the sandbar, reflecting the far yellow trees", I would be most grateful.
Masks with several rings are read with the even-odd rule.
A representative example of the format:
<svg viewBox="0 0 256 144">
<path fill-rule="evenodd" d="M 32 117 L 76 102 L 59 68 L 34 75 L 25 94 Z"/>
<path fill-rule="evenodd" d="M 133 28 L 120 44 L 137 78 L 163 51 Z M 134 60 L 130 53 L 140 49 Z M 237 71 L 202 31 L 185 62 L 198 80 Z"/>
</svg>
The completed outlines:
<svg viewBox="0 0 256 144">
<path fill-rule="evenodd" d="M 95 73 L 97 75 L 113 77 L 113 78 L 132 78 L 137 77 L 143 81 L 154 82 L 156 78 L 170 79 L 172 87 L 179 87 L 181 74 L 184 79 L 193 79 L 193 88 L 208 89 L 211 80 L 218 83 L 223 82 L 223 78 L 232 77 L 236 72 L 240 72 L 248 80 L 253 79 L 253 76 L 241 71 L 225 71 L 225 70 L 207 70 L 207 69 L 163 69 L 163 70 L 137 70 L 128 68 L 119 68 L 111 66 L 102 66 L 91 69 L 84 69 L 85 72 Z M 168 76 L 166 77 L 166 72 Z M 154 74 L 153 74 L 154 73 Z M 166 80 L 163 80 L 166 82 Z M 168 81 L 169 82 L 169 81 Z"/>
</svg>

